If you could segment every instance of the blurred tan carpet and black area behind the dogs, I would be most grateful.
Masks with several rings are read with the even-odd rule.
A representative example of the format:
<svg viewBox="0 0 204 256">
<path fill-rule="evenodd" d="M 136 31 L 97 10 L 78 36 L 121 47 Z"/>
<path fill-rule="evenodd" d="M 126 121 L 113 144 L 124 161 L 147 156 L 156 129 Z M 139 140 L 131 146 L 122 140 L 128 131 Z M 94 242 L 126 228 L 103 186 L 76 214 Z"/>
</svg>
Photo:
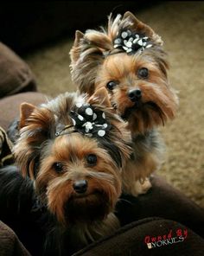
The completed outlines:
<svg viewBox="0 0 204 256">
<path fill-rule="evenodd" d="M 167 154 L 158 173 L 204 207 L 204 3 L 1 3 L 1 41 L 29 64 L 38 91 L 54 97 L 76 90 L 68 54 L 75 30 L 99 29 L 111 12 L 126 10 L 162 36 L 169 54 L 169 80 L 179 91 L 179 112 L 160 129 Z"/>
</svg>

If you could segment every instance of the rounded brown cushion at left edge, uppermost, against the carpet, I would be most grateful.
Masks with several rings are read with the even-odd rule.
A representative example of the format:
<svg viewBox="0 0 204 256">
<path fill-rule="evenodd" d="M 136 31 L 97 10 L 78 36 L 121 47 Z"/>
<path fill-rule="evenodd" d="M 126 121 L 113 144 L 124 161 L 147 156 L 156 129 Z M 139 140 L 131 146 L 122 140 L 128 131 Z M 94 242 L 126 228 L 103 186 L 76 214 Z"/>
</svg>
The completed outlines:
<svg viewBox="0 0 204 256">
<path fill-rule="evenodd" d="M 36 91 L 34 74 L 10 48 L 0 42 L 0 98 L 24 91 Z"/>
</svg>

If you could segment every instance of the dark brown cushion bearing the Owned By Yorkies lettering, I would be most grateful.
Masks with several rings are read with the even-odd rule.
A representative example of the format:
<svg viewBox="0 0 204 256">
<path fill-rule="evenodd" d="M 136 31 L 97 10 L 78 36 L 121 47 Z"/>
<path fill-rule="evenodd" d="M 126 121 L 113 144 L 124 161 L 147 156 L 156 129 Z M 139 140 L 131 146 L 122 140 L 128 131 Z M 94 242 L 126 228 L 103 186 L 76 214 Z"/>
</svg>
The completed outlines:
<svg viewBox="0 0 204 256">
<path fill-rule="evenodd" d="M 203 252 L 204 240 L 188 227 L 176 221 L 148 218 L 120 228 L 73 256 L 201 256 Z"/>
</svg>

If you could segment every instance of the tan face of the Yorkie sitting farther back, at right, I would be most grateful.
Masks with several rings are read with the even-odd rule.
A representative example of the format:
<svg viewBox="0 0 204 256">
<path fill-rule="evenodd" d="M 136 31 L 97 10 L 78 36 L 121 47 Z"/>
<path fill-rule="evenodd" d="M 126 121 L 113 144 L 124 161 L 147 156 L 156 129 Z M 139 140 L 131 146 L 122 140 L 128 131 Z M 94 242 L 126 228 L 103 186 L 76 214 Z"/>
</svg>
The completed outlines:
<svg viewBox="0 0 204 256">
<path fill-rule="evenodd" d="M 154 54 L 112 54 L 99 67 L 95 81 L 95 89 L 109 90 L 112 106 L 133 133 L 164 125 L 175 116 L 177 98 L 169 86 L 167 63 Z"/>
</svg>

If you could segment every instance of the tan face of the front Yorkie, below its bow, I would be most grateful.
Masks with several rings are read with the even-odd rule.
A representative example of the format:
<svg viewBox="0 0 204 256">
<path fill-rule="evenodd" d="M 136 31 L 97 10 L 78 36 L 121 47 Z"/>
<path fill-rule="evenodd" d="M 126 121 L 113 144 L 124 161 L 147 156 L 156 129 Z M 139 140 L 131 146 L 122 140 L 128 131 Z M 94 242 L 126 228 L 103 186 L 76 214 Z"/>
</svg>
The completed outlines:
<svg viewBox="0 0 204 256">
<path fill-rule="evenodd" d="M 120 171 L 95 140 L 63 135 L 44 155 L 35 188 L 58 221 L 95 221 L 113 210 L 121 193 Z"/>
</svg>

